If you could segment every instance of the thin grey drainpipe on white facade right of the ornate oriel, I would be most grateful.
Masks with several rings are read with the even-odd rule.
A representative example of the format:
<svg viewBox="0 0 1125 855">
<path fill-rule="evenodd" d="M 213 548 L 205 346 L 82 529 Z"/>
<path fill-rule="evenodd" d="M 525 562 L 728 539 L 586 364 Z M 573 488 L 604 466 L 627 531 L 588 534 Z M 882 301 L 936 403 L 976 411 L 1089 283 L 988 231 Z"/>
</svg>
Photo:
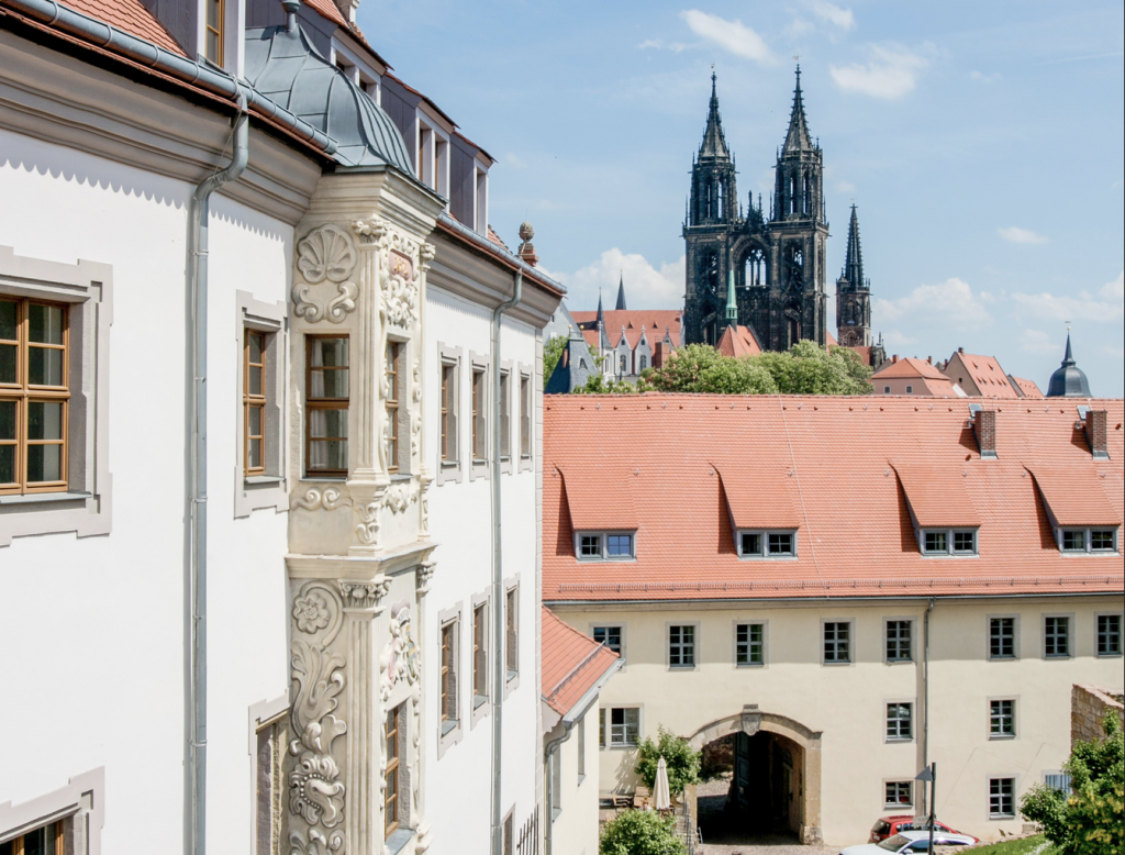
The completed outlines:
<svg viewBox="0 0 1125 855">
<path fill-rule="evenodd" d="M 504 649 L 504 615 L 502 605 L 504 602 L 504 567 L 501 560 L 501 526 L 500 526 L 500 327 L 504 313 L 514 308 L 523 298 L 523 271 L 515 272 L 515 291 L 512 299 L 500 304 L 493 309 L 493 477 L 492 477 L 492 500 L 493 500 L 493 627 L 494 646 L 496 651 L 493 656 L 495 667 L 493 668 L 493 855 L 504 855 L 504 834 L 501 829 L 501 748 L 504 737 L 502 727 L 502 706 L 504 703 L 504 685 L 507 672 L 506 657 L 501 656 Z M 511 439 L 511 435 L 510 435 Z M 511 451 L 511 449 L 510 449 Z"/>
</svg>

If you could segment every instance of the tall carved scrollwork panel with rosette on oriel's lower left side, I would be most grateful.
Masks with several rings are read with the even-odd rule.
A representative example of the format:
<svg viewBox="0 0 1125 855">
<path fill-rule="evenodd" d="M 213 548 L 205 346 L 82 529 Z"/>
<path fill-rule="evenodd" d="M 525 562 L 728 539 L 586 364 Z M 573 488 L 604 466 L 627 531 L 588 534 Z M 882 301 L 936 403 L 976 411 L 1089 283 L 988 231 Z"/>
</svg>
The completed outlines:
<svg viewBox="0 0 1125 855">
<path fill-rule="evenodd" d="M 340 597 L 323 582 L 308 582 L 294 598 L 290 718 L 296 758 L 288 775 L 290 855 L 341 855 L 344 848 L 344 784 L 332 754 L 333 742 L 348 732 L 334 713 L 344 691 L 343 654 L 332 642 L 343 626 Z"/>
</svg>

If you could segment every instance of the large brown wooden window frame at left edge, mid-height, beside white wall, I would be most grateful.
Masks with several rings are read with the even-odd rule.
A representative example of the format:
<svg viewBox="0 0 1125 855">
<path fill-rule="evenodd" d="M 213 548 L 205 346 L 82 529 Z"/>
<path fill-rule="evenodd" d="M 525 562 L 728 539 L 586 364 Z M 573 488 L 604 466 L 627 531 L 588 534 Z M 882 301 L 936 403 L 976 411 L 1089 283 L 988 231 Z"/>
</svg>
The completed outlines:
<svg viewBox="0 0 1125 855">
<path fill-rule="evenodd" d="M 0 495 L 32 495 L 37 493 L 65 493 L 70 480 L 70 310 L 71 304 L 30 297 L 0 297 L 16 304 L 16 338 L 0 340 L 0 345 L 16 348 L 16 381 L 0 384 L 0 402 L 16 404 L 16 435 L 0 440 L 0 446 L 15 447 L 16 480 L 0 485 Z M 62 344 L 30 341 L 30 307 L 48 306 L 62 310 Z M 32 348 L 62 352 L 62 386 L 30 382 Z M 62 404 L 61 438 L 57 440 L 28 439 L 28 411 L 32 404 Z M 28 482 L 27 457 L 30 446 L 60 446 L 58 474 L 52 482 Z M 34 485 L 34 486 L 33 486 Z"/>
</svg>

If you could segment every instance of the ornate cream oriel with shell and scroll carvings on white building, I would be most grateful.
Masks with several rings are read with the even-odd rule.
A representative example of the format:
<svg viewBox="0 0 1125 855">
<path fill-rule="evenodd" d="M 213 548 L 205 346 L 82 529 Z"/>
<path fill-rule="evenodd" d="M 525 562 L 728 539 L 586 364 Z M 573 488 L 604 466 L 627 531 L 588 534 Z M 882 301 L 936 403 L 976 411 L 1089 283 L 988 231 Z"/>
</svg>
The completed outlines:
<svg viewBox="0 0 1125 855">
<path fill-rule="evenodd" d="M 422 786 L 422 597 L 433 574 L 421 430 L 426 236 L 442 201 L 393 169 L 322 178 L 297 228 L 291 287 L 294 855 L 385 850 L 384 722 L 399 708 L 402 852 L 430 843 Z M 306 336 L 349 339 L 348 474 L 309 476 Z M 398 456 L 387 459 L 388 342 L 398 344 Z M 396 466 L 397 465 L 397 466 Z"/>
</svg>

